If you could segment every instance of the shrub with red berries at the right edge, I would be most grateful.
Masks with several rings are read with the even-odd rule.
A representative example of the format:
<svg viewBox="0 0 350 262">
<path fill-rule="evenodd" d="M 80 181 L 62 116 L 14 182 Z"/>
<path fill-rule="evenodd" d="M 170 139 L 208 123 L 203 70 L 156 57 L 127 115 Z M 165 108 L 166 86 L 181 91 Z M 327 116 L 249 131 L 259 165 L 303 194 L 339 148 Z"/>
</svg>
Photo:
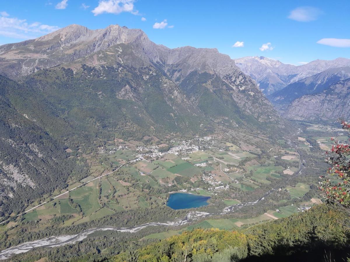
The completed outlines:
<svg viewBox="0 0 350 262">
<path fill-rule="evenodd" d="M 350 123 L 342 122 L 343 129 L 350 132 Z M 337 177 L 337 183 L 331 179 L 320 176 L 319 189 L 322 191 L 329 202 L 339 204 L 344 208 L 350 208 L 350 145 L 340 143 L 336 138 L 331 138 L 334 141 L 332 149 L 325 152 L 327 159 L 325 161 L 331 165 L 327 170 L 332 176 Z"/>
</svg>

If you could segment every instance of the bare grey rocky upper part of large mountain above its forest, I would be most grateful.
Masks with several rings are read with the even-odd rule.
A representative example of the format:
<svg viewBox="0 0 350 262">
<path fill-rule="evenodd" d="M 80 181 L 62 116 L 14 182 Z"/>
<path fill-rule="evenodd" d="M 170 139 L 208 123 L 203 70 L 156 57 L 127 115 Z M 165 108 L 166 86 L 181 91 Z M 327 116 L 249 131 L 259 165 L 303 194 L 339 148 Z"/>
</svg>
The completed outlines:
<svg viewBox="0 0 350 262">
<path fill-rule="evenodd" d="M 212 87 L 208 82 L 203 82 L 201 85 L 209 89 L 210 95 L 214 95 L 218 102 L 224 104 L 232 102 L 230 106 L 237 107 L 239 113 L 252 115 L 257 121 L 279 122 L 278 114 L 266 97 L 262 95 L 251 78 L 240 71 L 235 61 L 229 56 L 219 53 L 217 49 L 196 49 L 190 46 L 169 49 L 153 43 L 139 29 L 111 25 L 105 29 L 90 30 L 83 26 L 70 25 L 33 40 L 0 46 L 0 57 L 3 59 L 0 74 L 21 81 L 26 77 L 30 78 L 30 74 L 43 68 L 53 68 L 56 65 L 71 68 L 75 73 L 82 71 L 82 64 L 96 68 L 102 66 L 128 66 L 135 69 L 150 67 L 155 74 L 161 72 L 172 81 L 175 86 L 172 92 L 179 96 L 184 94 L 181 90 L 182 81 L 191 73 L 209 73 L 211 78 L 220 78 L 217 84 L 221 88 Z M 130 72 L 130 68 L 127 71 Z M 102 71 L 101 73 L 104 74 Z M 210 79 L 208 81 L 210 82 Z M 37 82 L 37 86 L 45 85 L 44 82 Z M 141 86 L 130 84 L 125 90 L 120 90 L 123 94 L 120 93 L 119 98 L 124 95 L 137 101 L 139 97 L 141 101 L 140 94 L 144 88 Z M 218 92 L 219 89 L 224 93 Z M 165 96 L 174 96 L 166 93 L 165 90 L 163 92 Z M 229 100 L 224 102 L 222 96 Z M 185 105 L 183 108 L 191 114 L 198 114 L 200 109 L 193 107 L 190 103 L 198 105 L 202 97 L 189 96 L 189 94 L 184 94 L 183 97 L 181 103 Z M 164 99 L 167 100 L 166 97 Z M 184 102 L 185 100 L 189 101 Z M 169 99 L 167 103 L 169 104 Z M 174 104 L 169 105 L 174 109 Z M 179 110 L 175 109 L 175 111 L 176 114 L 180 114 Z M 231 118 L 229 116 L 231 113 L 224 111 L 226 111 L 224 115 L 216 114 L 216 116 L 219 119 Z M 202 116 L 205 117 L 203 112 Z M 232 125 L 237 125 L 236 122 L 232 121 Z"/>
</svg>

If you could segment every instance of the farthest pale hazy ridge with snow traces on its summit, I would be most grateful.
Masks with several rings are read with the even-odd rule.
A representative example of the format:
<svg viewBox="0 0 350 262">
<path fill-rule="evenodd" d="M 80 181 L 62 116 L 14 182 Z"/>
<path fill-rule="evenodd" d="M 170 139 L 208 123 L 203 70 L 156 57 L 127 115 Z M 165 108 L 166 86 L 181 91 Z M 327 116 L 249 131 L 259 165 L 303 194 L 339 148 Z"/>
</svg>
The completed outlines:
<svg viewBox="0 0 350 262">
<path fill-rule="evenodd" d="M 290 83 L 320 73 L 329 68 L 350 66 L 350 59 L 314 60 L 308 64 L 295 66 L 283 64 L 278 60 L 266 57 L 242 57 L 235 59 L 236 65 L 252 77 L 264 94 L 270 95 Z"/>
</svg>

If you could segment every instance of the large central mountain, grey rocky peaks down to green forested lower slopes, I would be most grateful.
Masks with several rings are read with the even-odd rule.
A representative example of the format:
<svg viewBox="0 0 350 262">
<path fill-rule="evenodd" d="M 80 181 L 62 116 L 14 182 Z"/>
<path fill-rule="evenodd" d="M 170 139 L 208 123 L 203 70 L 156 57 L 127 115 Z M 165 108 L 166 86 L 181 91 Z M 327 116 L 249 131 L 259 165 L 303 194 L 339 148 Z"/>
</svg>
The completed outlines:
<svg viewBox="0 0 350 262">
<path fill-rule="evenodd" d="M 0 72 L 35 93 L 30 103 L 18 100 L 21 110 L 58 138 L 286 125 L 252 79 L 216 49 L 169 49 L 118 25 L 71 25 L 0 50 Z M 61 124 L 52 126 L 54 119 Z"/>
</svg>

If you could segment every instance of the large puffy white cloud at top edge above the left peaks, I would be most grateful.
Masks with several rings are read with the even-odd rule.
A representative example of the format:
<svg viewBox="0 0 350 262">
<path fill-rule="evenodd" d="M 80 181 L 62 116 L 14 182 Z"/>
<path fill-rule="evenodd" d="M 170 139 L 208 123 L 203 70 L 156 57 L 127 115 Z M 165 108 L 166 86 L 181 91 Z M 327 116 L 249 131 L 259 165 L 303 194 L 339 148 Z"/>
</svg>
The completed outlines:
<svg viewBox="0 0 350 262">
<path fill-rule="evenodd" d="M 103 13 L 109 14 L 120 14 L 122 12 L 138 14 L 137 10 L 134 10 L 135 0 L 100 0 L 98 6 L 95 7 L 91 12 L 96 15 Z"/>
</svg>

